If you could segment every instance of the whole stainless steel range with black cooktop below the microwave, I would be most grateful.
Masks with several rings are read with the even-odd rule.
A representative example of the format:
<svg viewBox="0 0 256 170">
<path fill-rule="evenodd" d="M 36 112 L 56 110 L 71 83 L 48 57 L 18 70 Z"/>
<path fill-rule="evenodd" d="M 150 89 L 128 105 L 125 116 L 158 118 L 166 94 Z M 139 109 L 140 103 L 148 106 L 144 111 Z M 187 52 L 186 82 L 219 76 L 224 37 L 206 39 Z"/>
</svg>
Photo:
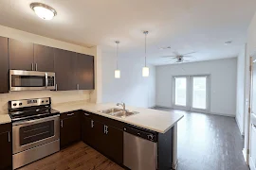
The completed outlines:
<svg viewBox="0 0 256 170">
<path fill-rule="evenodd" d="M 9 101 L 13 169 L 60 150 L 60 113 L 51 99 Z"/>
</svg>

